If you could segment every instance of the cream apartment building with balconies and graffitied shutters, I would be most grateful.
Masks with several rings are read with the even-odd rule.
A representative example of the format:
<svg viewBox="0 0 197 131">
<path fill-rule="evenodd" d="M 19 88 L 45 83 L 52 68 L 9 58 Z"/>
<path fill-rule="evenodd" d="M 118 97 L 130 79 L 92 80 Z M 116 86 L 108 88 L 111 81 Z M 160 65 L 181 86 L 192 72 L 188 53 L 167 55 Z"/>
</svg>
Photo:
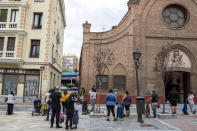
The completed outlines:
<svg viewBox="0 0 197 131">
<path fill-rule="evenodd" d="M 61 84 L 64 0 L 0 0 L 0 102 L 44 96 Z"/>
</svg>

